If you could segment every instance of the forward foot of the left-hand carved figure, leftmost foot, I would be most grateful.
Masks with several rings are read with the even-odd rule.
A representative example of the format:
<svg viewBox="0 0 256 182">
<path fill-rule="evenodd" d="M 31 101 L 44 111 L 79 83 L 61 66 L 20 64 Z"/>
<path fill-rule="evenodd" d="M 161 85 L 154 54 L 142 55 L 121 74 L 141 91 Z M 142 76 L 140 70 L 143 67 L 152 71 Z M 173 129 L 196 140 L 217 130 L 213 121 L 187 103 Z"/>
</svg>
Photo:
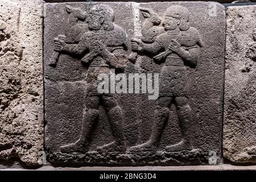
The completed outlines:
<svg viewBox="0 0 256 182">
<path fill-rule="evenodd" d="M 89 146 L 86 146 L 84 142 L 78 140 L 75 143 L 68 144 L 66 146 L 61 146 L 60 151 L 63 153 L 71 153 L 71 152 L 81 152 L 86 153 L 89 150 Z"/>
</svg>

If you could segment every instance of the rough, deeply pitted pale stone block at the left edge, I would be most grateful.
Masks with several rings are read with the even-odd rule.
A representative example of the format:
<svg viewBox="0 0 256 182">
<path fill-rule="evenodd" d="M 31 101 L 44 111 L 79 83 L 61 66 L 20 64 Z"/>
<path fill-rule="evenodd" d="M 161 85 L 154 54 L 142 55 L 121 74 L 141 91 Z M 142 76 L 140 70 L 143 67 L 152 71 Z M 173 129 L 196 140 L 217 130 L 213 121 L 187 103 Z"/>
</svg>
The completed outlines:
<svg viewBox="0 0 256 182">
<path fill-rule="evenodd" d="M 0 1 L 0 159 L 43 150 L 42 1 Z"/>
</svg>

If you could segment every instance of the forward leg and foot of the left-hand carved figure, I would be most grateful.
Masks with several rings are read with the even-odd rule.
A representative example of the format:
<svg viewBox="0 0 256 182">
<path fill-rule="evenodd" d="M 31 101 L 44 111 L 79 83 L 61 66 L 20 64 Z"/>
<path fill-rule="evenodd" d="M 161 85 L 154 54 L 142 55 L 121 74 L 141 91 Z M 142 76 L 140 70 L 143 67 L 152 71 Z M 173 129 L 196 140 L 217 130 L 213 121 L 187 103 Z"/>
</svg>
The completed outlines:
<svg viewBox="0 0 256 182">
<path fill-rule="evenodd" d="M 98 96 L 88 96 L 86 98 L 86 110 L 85 116 L 82 121 L 82 134 L 77 142 L 68 144 L 67 146 L 62 146 L 61 152 L 88 152 L 90 137 L 92 136 L 92 129 L 96 126 L 98 121 L 98 106 L 100 104 L 100 99 Z"/>
</svg>

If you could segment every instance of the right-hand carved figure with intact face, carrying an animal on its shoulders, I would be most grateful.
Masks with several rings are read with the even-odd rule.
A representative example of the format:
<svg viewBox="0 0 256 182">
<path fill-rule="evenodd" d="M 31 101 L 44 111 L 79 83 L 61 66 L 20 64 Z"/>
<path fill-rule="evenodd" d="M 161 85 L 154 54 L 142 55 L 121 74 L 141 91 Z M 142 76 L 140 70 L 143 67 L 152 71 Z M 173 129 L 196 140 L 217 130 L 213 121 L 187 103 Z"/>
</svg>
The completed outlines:
<svg viewBox="0 0 256 182">
<path fill-rule="evenodd" d="M 133 39 L 133 51 L 150 55 L 156 62 L 164 62 L 160 73 L 160 96 L 156 100 L 154 125 L 150 139 L 130 148 L 130 151 L 156 151 L 168 121 L 169 107 L 174 102 L 183 139 L 166 147 L 174 152 L 192 150 L 189 127 L 191 107 L 188 98 L 188 78 L 185 65 L 195 67 L 202 42 L 196 28 L 189 26 L 189 12 L 182 6 L 170 6 L 159 20 L 153 11 L 142 9 L 147 18 L 142 27 L 142 39 Z M 161 23 L 162 22 L 162 23 Z"/>
</svg>

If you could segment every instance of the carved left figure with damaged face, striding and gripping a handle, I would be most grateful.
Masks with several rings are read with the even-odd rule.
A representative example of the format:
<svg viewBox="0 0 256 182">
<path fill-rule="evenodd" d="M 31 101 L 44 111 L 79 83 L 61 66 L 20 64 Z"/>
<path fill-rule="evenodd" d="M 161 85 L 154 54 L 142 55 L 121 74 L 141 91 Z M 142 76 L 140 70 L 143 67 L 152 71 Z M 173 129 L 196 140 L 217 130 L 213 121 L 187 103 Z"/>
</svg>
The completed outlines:
<svg viewBox="0 0 256 182">
<path fill-rule="evenodd" d="M 80 18 L 85 18 L 84 16 Z M 75 143 L 61 147 L 61 152 L 88 152 L 93 128 L 97 125 L 100 103 L 105 107 L 114 141 L 104 144 L 97 150 L 126 151 L 123 133 L 123 116 L 121 107 L 112 93 L 97 91 L 98 75 L 110 75 L 110 68 L 121 69 L 127 60 L 127 36 L 123 28 L 114 23 L 114 11 L 107 5 L 94 5 L 86 15 L 88 31 L 78 43 L 67 43 L 63 39 L 55 39 L 55 51 L 81 56 L 81 62 L 89 64 L 86 81 L 86 111 L 82 121 L 82 133 Z M 75 28 L 76 29 L 76 28 Z M 78 32 L 79 33 L 79 32 Z"/>
</svg>

